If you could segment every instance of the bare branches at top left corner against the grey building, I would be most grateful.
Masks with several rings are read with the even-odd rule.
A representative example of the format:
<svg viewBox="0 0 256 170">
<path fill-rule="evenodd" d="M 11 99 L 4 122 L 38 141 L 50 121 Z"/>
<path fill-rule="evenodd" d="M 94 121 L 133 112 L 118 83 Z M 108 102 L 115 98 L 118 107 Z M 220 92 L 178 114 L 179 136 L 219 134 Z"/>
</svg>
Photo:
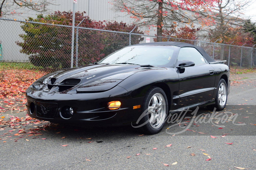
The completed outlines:
<svg viewBox="0 0 256 170">
<path fill-rule="evenodd" d="M 48 5 L 55 5 L 53 1 L 55 0 L 0 0 L 0 17 L 13 15 L 19 8 L 45 12 Z"/>
</svg>

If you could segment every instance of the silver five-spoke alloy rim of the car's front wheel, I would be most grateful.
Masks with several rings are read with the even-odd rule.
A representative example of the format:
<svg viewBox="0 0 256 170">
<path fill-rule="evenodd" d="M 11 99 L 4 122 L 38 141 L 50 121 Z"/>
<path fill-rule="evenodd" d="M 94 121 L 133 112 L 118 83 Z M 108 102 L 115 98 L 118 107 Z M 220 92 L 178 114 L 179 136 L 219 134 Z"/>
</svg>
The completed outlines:
<svg viewBox="0 0 256 170">
<path fill-rule="evenodd" d="M 154 129 L 159 128 L 166 116 L 166 103 L 164 97 L 160 93 L 152 96 L 148 105 L 148 120 Z"/>
</svg>

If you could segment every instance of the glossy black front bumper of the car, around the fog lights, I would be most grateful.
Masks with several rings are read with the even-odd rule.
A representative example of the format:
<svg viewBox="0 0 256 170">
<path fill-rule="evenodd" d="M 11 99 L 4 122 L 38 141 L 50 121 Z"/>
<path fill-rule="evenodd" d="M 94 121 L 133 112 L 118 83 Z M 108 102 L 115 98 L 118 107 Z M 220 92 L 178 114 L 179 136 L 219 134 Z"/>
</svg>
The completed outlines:
<svg viewBox="0 0 256 170">
<path fill-rule="evenodd" d="M 120 86 L 100 93 L 48 93 L 29 87 L 26 91 L 27 113 L 33 118 L 55 123 L 68 123 L 81 127 L 108 127 L 130 125 L 136 122 L 141 110 L 133 106 L 142 105 L 143 98 L 132 98 Z M 120 101 L 121 107 L 109 110 L 107 103 Z M 63 109 L 72 108 L 73 115 L 63 118 Z"/>
</svg>

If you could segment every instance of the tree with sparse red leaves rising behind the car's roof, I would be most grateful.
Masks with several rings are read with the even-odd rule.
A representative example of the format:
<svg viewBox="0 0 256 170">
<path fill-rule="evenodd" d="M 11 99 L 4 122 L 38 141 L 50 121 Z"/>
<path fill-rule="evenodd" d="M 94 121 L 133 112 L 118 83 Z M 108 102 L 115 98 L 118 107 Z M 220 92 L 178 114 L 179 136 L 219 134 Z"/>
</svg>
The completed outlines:
<svg viewBox="0 0 256 170">
<path fill-rule="evenodd" d="M 201 16 L 197 10 L 206 11 L 214 0 L 115 0 L 113 9 L 127 12 L 136 21 L 137 25 L 157 27 L 157 36 L 162 36 L 162 29 L 171 28 L 177 22 L 192 24 Z M 162 41 L 161 37 L 157 41 Z"/>
</svg>

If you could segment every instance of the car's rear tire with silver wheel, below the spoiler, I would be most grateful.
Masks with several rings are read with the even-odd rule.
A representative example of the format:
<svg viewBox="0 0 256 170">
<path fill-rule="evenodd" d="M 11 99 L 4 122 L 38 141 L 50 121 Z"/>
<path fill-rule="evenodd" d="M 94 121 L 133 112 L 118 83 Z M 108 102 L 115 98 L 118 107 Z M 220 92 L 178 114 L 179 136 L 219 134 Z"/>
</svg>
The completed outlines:
<svg viewBox="0 0 256 170">
<path fill-rule="evenodd" d="M 220 79 L 217 89 L 215 107 L 217 111 L 220 111 L 225 108 L 227 103 L 227 83 L 224 79 Z"/>
</svg>

